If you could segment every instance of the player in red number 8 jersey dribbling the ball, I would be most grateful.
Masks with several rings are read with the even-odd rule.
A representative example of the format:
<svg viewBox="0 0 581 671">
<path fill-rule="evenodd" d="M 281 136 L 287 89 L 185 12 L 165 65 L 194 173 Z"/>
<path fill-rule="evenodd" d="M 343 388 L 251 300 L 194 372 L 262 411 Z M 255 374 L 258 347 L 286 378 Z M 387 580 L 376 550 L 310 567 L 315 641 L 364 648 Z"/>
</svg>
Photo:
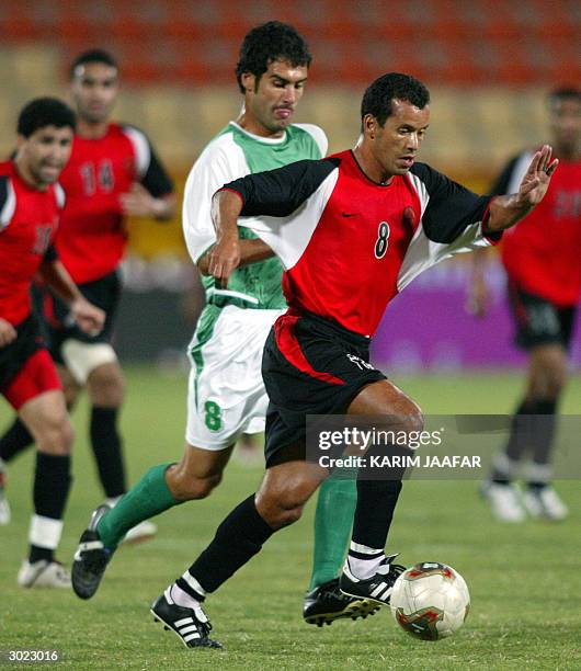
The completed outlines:
<svg viewBox="0 0 581 671">
<path fill-rule="evenodd" d="M 388 430 L 421 429 L 418 406 L 368 363 L 369 340 L 389 300 L 434 263 L 488 246 L 487 236 L 498 237 L 524 217 L 548 187 L 557 166 L 548 146 L 534 156 L 519 192 L 497 198 L 477 196 L 415 163 L 429 101 L 420 81 L 385 75 L 365 92 L 362 135 L 353 151 L 250 174 L 214 197 L 217 243 L 208 252 L 210 274 L 227 285 L 237 268 L 241 217 L 240 225 L 251 227 L 283 262 L 289 309 L 264 349 L 270 405 L 262 485 L 151 607 L 186 646 L 219 647 L 209 638 L 201 602 L 275 531 L 297 521 L 328 476 L 305 459 L 307 414 L 384 416 Z M 255 218 L 261 215 L 266 216 Z M 352 543 L 340 579 L 344 593 L 389 602 L 401 567 L 384 548 L 401 475 L 357 478 Z M 86 554 L 88 570 L 102 571 L 106 564 L 98 538 L 90 528 L 81 536 L 77 556 Z M 190 595 L 189 607 L 174 603 L 174 584 Z"/>
</svg>

